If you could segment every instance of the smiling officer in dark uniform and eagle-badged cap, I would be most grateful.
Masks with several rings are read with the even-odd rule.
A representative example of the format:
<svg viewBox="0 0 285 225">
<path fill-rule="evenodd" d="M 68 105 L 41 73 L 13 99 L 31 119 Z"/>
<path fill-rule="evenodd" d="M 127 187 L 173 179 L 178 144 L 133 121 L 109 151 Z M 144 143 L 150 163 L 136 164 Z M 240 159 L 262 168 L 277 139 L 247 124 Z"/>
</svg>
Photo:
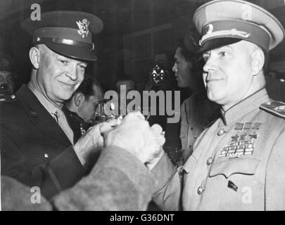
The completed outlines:
<svg viewBox="0 0 285 225">
<path fill-rule="evenodd" d="M 61 110 L 84 78 L 87 62 L 96 60 L 92 35 L 103 23 L 77 11 L 42 13 L 27 18 L 32 35 L 32 75 L 15 98 L 1 103 L 1 174 L 38 186 L 46 198 L 69 188 L 89 167 L 89 155 L 103 145 L 99 124 L 73 143 L 72 129 Z"/>
</svg>

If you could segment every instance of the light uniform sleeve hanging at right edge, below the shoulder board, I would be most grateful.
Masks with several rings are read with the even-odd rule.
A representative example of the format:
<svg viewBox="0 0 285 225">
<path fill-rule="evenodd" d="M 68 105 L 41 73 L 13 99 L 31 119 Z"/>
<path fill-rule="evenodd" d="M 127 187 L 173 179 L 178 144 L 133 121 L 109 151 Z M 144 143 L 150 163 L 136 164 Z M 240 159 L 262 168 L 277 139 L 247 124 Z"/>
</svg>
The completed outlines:
<svg viewBox="0 0 285 225">
<path fill-rule="evenodd" d="M 265 180 L 265 210 L 285 210 L 285 129 L 277 137 Z"/>
</svg>

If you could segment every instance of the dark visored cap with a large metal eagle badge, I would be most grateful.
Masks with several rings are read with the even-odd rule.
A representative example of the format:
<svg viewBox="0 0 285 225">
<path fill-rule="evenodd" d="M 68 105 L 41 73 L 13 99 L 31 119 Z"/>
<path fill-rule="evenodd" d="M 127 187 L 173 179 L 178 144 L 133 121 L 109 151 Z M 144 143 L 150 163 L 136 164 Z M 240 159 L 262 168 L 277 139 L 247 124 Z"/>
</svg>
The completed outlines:
<svg viewBox="0 0 285 225">
<path fill-rule="evenodd" d="M 78 60 L 96 60 L 92 34 L 103 29 L 102 21 L 80 11 L 51 11 L 41 14 L 41 20 L 27 18 L 23 30 L 32 35 L 33 44 L 46 44 L 63 56 Z"/>
</svg>

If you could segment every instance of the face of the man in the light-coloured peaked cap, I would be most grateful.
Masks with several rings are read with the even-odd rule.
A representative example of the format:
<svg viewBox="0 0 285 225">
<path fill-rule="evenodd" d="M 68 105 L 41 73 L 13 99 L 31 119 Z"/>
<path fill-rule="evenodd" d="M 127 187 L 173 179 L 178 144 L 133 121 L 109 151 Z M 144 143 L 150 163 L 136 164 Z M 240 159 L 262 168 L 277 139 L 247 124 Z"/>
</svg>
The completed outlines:
<svg viewBox="0 0 285 225">
<path fill-rule="evenodd" d="M 247 43 L 239 41 L 203 53 L 203 81 L 211 101 L 230 107 L 248 96 L 254 76 Z"/>
</svg>

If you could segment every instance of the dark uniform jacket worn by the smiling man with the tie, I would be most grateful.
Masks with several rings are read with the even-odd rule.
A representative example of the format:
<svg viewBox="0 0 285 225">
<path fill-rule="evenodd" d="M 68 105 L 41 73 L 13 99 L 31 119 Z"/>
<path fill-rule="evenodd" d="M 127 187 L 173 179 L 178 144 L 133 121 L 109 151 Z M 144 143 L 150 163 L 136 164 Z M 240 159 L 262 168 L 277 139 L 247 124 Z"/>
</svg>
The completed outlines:
<svg viewBox="0 0 285 225">
<path fill-rule="evenodd" d="M 46 198 L 86 174 L 68 136 L 25 84 L 0 105 L 0 148 L 1 175 L 38 186 Z"/>
</svg>

